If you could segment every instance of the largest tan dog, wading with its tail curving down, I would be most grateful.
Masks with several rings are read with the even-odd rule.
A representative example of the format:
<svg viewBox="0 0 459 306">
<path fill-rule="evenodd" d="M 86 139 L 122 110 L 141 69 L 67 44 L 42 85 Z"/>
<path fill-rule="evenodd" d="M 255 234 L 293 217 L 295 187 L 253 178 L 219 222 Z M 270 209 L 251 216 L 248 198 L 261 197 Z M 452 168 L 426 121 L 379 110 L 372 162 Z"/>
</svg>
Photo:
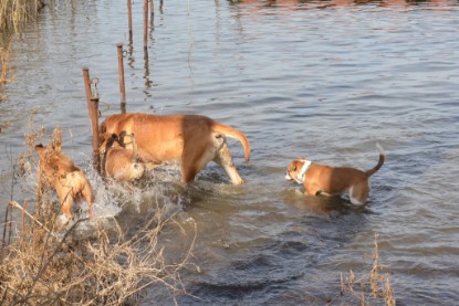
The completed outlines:
<svg viewBox="0 0 459 306">
<path fill-rule="evenodd" d="M 155 116 L 119 114 L 108 116 L 100 126 L 101 133 L 134 134 L 143 161 L 159 165 L 181 161 L 181 180 L 191 182 L 206 165 L 220 165 L 234 184 L 243 183 L 236 169 L 226 137 L 241 141 L 246 161 L 250 144 L 239 130 L 198 115 Z M 129 148 L 129 146 L 127 146 Z"/>
</svg>

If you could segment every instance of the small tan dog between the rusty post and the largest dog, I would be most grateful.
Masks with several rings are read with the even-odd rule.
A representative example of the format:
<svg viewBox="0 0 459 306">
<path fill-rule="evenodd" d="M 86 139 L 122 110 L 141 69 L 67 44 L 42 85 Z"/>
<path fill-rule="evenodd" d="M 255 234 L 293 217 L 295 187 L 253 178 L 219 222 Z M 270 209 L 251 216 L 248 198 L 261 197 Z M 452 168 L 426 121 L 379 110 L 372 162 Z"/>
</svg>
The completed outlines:
<svg viewBox="0 0 459 306">
<path fill-rule="evenodd" d="M 125 146 L 125 138 L 129 137 L 133 149 Z M 103 155 L 102 167 L 107 178 L 114 178 L 117 181 L 133 181 L 144 176 L 145 166 L 138 161 L 137 145 L 134 134 L 127 136 L 125 131 L 116 134 L 101 135 L 100 152 Z"/>
</svg>

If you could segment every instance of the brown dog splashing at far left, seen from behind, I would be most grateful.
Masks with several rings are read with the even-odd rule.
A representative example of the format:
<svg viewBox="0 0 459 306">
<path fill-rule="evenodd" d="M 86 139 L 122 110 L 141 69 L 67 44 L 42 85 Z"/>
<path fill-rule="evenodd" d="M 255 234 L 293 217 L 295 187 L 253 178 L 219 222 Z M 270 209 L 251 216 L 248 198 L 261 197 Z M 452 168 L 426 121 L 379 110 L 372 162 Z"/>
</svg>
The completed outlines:
<svg viewBox="0 0 459 306">
<path fill-rule="evenodd" d="M 93 191 L 83 171 L 72 159 L 61 152 L 61 145 L 43 147 L 36 145 L 40 157 L 39 179 L 44 178 L 59 197 L 61 210 L 67 219 L 72 218 L 71 209 L 75 200 L 83 198 L 92 215 Z"/>
</svg>

